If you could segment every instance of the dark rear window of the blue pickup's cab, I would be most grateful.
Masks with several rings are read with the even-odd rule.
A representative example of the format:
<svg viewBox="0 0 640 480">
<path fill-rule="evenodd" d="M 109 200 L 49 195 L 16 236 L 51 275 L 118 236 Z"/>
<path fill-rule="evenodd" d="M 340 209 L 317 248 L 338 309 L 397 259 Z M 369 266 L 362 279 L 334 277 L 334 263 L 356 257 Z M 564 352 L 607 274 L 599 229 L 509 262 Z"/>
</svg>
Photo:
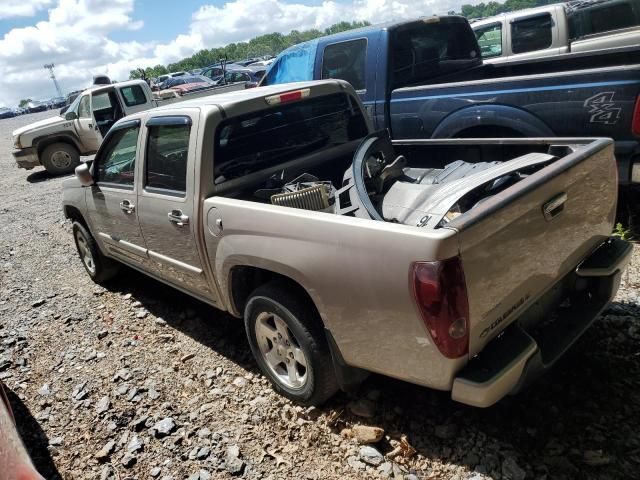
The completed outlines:
<svg viewBox="0 0 640 480">
<path fill-rule="evenodd" d="M 473 30 L 455 18 L 401 26 L 393 32 L 389 57 L 393 88 L 481 63 Z"/>
</svg>

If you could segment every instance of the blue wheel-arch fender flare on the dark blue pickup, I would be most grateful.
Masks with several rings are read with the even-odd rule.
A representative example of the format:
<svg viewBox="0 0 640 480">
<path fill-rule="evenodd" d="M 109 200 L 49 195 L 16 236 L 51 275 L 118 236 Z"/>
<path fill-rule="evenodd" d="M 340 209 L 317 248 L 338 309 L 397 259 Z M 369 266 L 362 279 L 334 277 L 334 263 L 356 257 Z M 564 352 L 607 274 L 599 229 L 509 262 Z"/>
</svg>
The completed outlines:
<svg viewBox="0 0 640 480">
<path fill-rule="evenodd" d="M 554 137 L 553 131 L 538 117 L 506 105 L 473 105 L 456 110 L 436 127 L 431 138 L 454 138 L 472 127 L 504 127 L 525 137 Z"/>
</svg>

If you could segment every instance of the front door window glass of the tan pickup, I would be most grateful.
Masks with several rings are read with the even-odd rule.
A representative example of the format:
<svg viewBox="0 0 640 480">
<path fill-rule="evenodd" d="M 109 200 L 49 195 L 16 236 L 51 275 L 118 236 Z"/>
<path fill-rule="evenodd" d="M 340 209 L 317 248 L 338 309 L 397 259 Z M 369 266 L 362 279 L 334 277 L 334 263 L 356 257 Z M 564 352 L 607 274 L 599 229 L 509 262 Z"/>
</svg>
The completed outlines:
<svg viewBox="0 0 640 480">
<path fill-rule="evenodd" d="M 139 132 L 138 126 L 113 132 L 96 159 L 96 182 L 133 187 Z"/>
</svg>

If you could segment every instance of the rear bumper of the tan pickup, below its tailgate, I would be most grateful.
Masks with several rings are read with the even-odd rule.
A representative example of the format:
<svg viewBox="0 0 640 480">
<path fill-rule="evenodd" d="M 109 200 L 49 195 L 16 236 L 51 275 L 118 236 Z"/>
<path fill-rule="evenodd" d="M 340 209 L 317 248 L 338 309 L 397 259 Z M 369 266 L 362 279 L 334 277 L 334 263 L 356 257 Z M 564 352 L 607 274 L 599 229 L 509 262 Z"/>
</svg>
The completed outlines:
<svg viewBox="0 0 640 480">
<path fill-rule="evenodd" d="M 631 252 L 623 240 L 602 244 L 575 272 L 588 295 L 535 328 L 525 329 L 517 321 L 509 325 L 454 379 L 453 400 L 489 407 L 551 368 L 613 299 Z"/>
</svg>

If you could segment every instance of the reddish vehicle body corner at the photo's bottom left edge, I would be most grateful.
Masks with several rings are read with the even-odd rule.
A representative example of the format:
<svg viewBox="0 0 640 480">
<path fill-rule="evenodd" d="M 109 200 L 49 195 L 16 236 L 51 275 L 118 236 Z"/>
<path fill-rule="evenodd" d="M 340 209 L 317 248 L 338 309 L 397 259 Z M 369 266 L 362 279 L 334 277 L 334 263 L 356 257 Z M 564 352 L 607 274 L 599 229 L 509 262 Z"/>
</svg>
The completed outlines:
<svg viewBox="0 0 640 480">
<path fill-rule="evenodd" d="M 9 399 L 0 382 L 0 479 L 44 480 L 37 472 L 16 430 Z"/>
</svg>

